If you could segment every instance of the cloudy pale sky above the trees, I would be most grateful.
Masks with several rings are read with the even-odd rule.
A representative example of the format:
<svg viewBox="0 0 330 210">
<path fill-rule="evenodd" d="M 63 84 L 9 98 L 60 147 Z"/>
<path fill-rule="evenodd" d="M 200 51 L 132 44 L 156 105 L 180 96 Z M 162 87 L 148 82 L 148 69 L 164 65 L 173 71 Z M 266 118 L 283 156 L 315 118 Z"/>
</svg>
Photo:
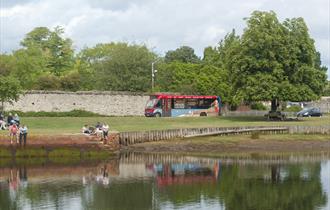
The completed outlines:
<svg viewBox="0 0 330 210">
<path fill-rule="evenodd" d="M 202 56 L 233 28 L 241 34 L 254 10 L 273 10 L 280 21 L 303 17 L 330 69 L 330 0 L 0 0 L 0 52 L 18 49 L 35 27 L 62 26 L 78 51 L 124 41 L 159 55 L 187 45 Z"/>
</svg>

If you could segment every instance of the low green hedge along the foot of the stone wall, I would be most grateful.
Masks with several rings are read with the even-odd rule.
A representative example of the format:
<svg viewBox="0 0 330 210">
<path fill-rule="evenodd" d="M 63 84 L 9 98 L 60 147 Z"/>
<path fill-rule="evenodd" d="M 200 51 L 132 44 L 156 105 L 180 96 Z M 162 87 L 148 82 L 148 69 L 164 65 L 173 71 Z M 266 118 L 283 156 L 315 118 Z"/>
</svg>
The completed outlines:
<svg viewBox="0 0 330 210">
<path fill-rule="evenodd" d="M 104 115 L 100 115 L 94 112 L 89 112 L 85 110 L 72 110 L 70 112 L 21 112 L 21 111 L 7 111 L 5 116 L 8 116 L 8 113 L 17 113 L 20 117 L 103 117 Z"/>
</svg>

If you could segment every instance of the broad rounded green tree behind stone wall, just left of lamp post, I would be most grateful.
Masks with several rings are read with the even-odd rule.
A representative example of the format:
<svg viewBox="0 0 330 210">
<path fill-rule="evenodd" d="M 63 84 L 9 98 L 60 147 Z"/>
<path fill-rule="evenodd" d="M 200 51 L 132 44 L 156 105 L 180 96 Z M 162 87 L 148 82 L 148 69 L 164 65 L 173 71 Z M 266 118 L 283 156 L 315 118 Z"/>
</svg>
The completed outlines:
<svg viewBox="0 0 330 210">
<path fill-rule="evenodd" d="M 93 78 L 93 89 L 148 91 L 151 63 L 155 58 L 144 45 L 98 44 L 79 54 L 81 68 L 78 71 L 84 73 L 84 77 Z"/>
</svg>

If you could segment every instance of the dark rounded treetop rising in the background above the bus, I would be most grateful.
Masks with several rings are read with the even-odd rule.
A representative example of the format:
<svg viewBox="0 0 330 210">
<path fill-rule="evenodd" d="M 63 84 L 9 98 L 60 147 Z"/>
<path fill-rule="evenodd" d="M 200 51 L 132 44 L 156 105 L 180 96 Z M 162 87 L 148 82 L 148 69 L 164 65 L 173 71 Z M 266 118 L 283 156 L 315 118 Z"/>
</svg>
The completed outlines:
<svg viewBox="0 0 330 210">
<path fill-rule="evenodd" d="M 165 62 L 199 63 L 200 59 L 195 55 L 194 49 L 182 46 L 174 51 L 170 50 L 165 55 Z"/>
</svg>

